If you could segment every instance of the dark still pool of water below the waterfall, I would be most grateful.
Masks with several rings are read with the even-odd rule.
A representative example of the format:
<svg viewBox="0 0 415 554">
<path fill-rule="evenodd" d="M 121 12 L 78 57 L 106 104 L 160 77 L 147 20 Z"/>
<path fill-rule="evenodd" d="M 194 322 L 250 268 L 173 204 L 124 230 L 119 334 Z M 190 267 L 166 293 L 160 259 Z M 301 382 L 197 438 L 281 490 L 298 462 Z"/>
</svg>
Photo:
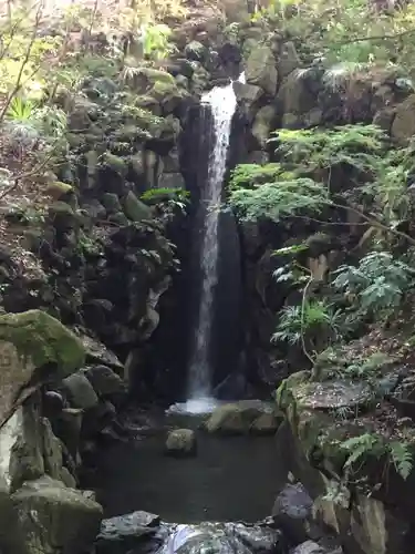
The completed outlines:
<svg viewBox="0 0 415 554">
<path fill-rule="evenodd" d="M 198 423 L 196 417 L 164 417 L 145 437 L 102 450 L 95 489 L 106 517 L 145 510 L 170 522 L 255 522 L 270 514 L 286 481 L 274 439 L 196 431 L 195 458 L 164 454 L 169 428 Z"/>
</svg>

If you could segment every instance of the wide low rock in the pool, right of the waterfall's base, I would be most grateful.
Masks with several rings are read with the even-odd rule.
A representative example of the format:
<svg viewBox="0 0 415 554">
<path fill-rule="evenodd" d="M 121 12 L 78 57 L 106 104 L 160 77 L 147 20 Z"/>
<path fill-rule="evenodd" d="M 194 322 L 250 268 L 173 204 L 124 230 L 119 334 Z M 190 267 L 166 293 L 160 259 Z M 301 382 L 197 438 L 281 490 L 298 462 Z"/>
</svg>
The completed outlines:
<svg viewBox="0 0 415 554">
<path fill-rule="evenodd" d="M 260 400 L 241 400 L 217 408 L 205 422 L 209 433 L 273 434 L 281 418 L 272 404 Z"/>
</svg>

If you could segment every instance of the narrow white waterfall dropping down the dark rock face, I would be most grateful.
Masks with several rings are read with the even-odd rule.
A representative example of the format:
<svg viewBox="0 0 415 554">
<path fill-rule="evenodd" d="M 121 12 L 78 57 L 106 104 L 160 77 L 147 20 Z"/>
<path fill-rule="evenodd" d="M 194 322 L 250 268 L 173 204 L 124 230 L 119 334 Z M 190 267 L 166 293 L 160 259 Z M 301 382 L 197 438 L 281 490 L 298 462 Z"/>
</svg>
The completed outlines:
<svg viewBox="0 0 415 554">
<path fill-rule="evenodd" d="M 188 401 L 191 412 L 209 411 L 215 406 L 211 397 L 209 346 L 212 322 L 215 286 L 218 280 L 218 220 L 226 172 L 232 116 L 237 99 L 232 83 L 216 86 L 201 99 L 212 117 L 214 144 L 209 156 L 208 177 L 201 192 L 204 209 L 203 243 L 200 248 L 201 295 L 195 331 L 195 341 L 188 375 Z"/>
</svg>

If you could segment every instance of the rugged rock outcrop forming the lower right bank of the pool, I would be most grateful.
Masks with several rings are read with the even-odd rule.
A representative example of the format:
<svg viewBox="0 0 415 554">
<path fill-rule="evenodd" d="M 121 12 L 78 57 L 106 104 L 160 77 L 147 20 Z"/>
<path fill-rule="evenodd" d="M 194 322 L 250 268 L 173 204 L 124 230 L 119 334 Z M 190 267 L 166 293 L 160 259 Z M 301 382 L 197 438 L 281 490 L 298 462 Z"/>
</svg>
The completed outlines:
<svg viewBox="0 0 415 554">
<path fill-rule="evenodd" d="M 391 375 L 383 376 L 380 386 L 386 380 L 394 382 Z M 277 441 L 287 471 L 303 483 L 312 500 L 298 484 L 295 492 L 287 489 L 277 500 L 274 513 L 299 542 L 315 533 L 318 524 L 336 535 L 347 553 L 406 552 L 413 519 L 412 500 L 404 490 L 411 490 L 413 478 L 404 481 L 387 456 L 371 458 L 370 449 L 362 454 L 356 473 L 350 474 L 349 454 L 342 448 L 343 441 L 362 434 L 361 425 L 367 433 L 375 432 L 373 394 L 373 387 L 365 382 L 313 382 L 308 372 L 294 373 L 281 384 L 278 399 L 287 419 Z M 344 416 L 339 419 L 336 413 Z M 357 414 L 357 421 L 347 413 Z M 293 504 L 302 507 L 289 514 L 284 497 L 295 501 L 295 494 L 300 500 Z"/>
</svg>

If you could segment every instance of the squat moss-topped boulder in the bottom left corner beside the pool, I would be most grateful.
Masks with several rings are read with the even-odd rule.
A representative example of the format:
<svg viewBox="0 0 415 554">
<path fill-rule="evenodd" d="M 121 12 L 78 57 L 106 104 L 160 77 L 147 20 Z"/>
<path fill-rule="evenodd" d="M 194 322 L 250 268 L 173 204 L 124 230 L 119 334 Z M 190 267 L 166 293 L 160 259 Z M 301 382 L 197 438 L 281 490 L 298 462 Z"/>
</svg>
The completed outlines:
<svg viewBox="0 0 415 554">
<path fill-rule="evenodd" d="M 46 475 L 24 483 L 12 504 L 27 554 L 81 554 L 100 531 L 101 505 Z"/>
</svg>

